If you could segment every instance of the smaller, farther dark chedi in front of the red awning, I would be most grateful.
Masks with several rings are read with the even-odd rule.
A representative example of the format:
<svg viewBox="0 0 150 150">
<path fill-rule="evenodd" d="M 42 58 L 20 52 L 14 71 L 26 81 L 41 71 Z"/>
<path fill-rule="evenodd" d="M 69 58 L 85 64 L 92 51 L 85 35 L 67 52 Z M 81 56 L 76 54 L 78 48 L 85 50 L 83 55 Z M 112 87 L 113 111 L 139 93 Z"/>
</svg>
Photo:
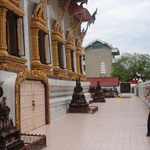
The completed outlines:
<svg viewBox="0 0 150 150">
<path fill-rule="evenodd" d="M 93 96 L 93 102 L 106 102 L 104 93 L 100 86 L 100 81 L 97 81 L 96 91 Z"/>
</svg>

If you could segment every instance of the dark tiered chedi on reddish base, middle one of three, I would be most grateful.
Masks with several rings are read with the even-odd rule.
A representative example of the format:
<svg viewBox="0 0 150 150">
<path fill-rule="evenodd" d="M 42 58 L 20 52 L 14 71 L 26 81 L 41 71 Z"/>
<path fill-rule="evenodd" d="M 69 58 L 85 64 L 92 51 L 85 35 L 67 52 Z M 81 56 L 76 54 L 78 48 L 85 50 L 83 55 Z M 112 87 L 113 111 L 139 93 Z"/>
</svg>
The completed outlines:
<svg viewBox="0 0 150 150">
<path fill-rule="evenodd" d="M 69 105 L 68 112 L 70 113 L 94 113 L 98 111 L 97 106 L 89 106 L 83 88 L 81 87 L 80 78 L 76 79 L 76 86 L 72 95 L 72 100 Z"/>
</svg>

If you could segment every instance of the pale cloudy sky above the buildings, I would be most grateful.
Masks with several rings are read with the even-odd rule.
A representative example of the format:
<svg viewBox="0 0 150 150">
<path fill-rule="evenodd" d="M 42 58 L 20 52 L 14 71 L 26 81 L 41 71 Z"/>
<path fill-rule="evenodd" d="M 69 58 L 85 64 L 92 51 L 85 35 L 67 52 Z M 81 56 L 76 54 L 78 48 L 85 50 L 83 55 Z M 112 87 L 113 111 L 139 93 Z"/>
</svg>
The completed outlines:
<svg viewBox="0 0 150 150">
<path fill-rule="evenodd" d="M 117 47 L 120 54 L 150 55 L 150 0 L 88 0 L 83 7 L 91 15 L 98 9 L 83 46 L 99 39 Z"/>
</svg>

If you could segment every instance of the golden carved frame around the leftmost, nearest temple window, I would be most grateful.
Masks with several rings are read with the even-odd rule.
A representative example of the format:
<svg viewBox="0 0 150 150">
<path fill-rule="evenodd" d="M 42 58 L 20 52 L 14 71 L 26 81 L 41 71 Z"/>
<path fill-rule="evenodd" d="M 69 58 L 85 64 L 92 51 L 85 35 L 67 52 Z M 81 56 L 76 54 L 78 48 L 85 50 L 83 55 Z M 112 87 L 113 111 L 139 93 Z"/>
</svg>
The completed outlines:
<svg viewBox="0 0 150 150">
<path fill-rule="evenodd" d="M 14 71 L 23 71 L 27 60 L 20 57 L 9 55 L 7 52 L 6 40 L 6 15 L 7 11 L 13 11 L 18 17 L 23 17 L 24 13 L 20 9 L 20 0 L 1 0 L 0 1 L 0 69 L 9 69 Z M 17 37 L 19 56 L 21 56 L 20 48 L 20 19 L 17 21 Z"/>
</svg>

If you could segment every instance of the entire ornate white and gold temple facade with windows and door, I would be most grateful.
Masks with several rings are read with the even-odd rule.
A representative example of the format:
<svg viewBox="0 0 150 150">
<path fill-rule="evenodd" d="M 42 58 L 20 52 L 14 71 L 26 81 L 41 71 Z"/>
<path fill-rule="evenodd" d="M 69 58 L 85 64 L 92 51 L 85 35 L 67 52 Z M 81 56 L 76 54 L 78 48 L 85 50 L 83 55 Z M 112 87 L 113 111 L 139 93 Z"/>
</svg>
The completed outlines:
<svg viewBox="0 0 150 150">
<path fill-rule="evenodd" d="M 91 15 L 84 3 L 87 0 L 0 1 L 0 85 L 21 132 L 65 114 L 76 78 L 90 99 L 82 41 L 96 12 Z"/>
</svg>

